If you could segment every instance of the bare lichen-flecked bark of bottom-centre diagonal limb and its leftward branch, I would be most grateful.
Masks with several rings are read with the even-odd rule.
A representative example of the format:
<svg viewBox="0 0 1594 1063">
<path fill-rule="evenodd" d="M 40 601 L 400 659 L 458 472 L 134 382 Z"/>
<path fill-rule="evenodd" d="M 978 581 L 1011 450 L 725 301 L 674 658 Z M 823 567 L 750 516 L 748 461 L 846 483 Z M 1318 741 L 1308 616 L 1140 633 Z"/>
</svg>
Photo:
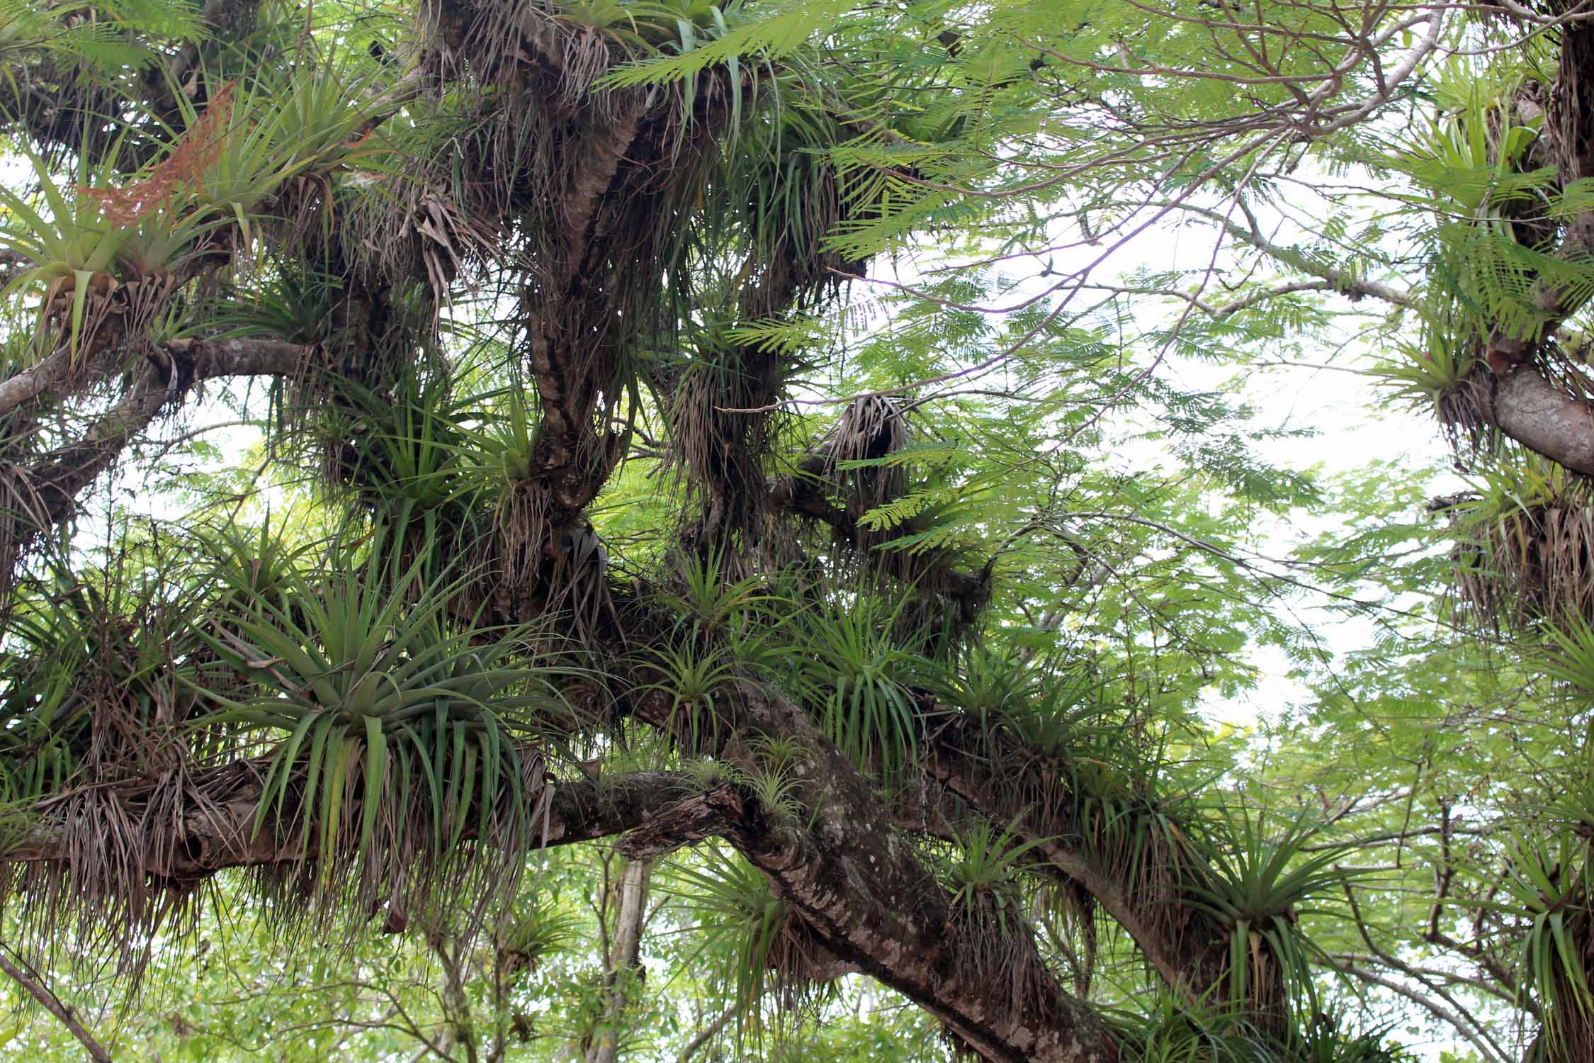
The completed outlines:
<svg viewBox="0 0 1594 1063">
<path fill-rule="evenodd" d="M 685 781 L 665 771 L 552 786 L 545 838 L 529 845 L 572 841 L 639 830 L 636 846 L 668 848 L 666 827 L 685 841 L 711 830 L 724 835 L 770 880 L 816 943 L 838 963 L 813 977 L 858 969 L 931 1010 L 948 1031 L 987 1060 L 1042 1063 L 1113 1063 L 1113 1034 L 1084 1004 L 1065 994 L 1019 934 L 1003 942 L 1012 955 L 1035 959 L 1035 979 L 1014 985 L 982 969 L 958 908 L 910 846 L 896 835 L 888 808 L 858 770 L 818 733 L 795 704 L 757 684 L 738 684 L 733 725 L 720 730 L 722 755 L 743 770 L 759 768 L 749 744 L 757 735 L 789 735 L 807 751 L 792 773 L 810 811 L 770 822 L 765 810 L 730 792 L 682 800 Z M 668 728 L 668 703 L 638 706 L 646 722 Z M 249 763 L 231 771 L 228 786 L 212 786 L 204 808 L 179 818 L 175 840 L 140 854 L 150 875 L 194 881 L 226 867 L 304 859 L 298 837 L 253 830 L 261 771 Z M 650 827 L 654 821 L 657 827 Z M 70 861 L 70 845 L 43 822 L 11 862 Z"/>
</svg>

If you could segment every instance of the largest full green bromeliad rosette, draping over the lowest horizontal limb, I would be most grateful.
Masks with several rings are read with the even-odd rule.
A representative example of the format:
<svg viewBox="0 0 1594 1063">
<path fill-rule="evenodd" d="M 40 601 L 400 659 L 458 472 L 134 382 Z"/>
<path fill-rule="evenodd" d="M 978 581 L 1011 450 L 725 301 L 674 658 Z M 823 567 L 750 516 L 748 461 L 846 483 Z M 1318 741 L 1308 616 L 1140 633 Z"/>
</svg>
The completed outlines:
<svg viewBox="0 0 1594 1063">
<path fill-rule="evenodd" d="M 448 867 L 467 837 L 513 865 L 539 819 L 524 720 L 559 704 L 556 669 L 526 660 L 518 630 L 461 625 L 457 580 L 426 580 L 426 561 L 402 567 L 378 528 L 363 559 L 335 548 L 322 575 L 287 577 L 282 604 L 239 596 L 201 630 L 253 690 L 207 690 L 215 722 L 269 741 L 255 830 L 296 827 L 322 896 L 352 862 L 362 897 L 424 891 L 406 862 Z"/>
</svg>

